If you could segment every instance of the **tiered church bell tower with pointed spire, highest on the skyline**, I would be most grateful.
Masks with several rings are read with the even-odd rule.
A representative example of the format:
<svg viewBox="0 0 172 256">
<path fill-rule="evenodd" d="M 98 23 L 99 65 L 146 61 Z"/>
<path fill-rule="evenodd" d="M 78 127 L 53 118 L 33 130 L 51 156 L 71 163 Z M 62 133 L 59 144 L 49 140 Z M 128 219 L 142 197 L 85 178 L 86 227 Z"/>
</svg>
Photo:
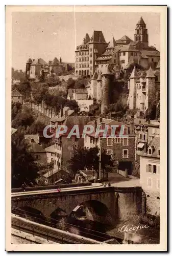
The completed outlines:
<svg viewBox="0 0 172 256">
<path fill-rule="evenodd" d="M 146 25 L 145 25 L 142 17 L 140 17 L 140 19 L 136 25 L 134 41 L 142 42 L 143 47 L 148 47 L 148 45 L 149 45 L 148 29 L 146 29 Z"/>
</svg>

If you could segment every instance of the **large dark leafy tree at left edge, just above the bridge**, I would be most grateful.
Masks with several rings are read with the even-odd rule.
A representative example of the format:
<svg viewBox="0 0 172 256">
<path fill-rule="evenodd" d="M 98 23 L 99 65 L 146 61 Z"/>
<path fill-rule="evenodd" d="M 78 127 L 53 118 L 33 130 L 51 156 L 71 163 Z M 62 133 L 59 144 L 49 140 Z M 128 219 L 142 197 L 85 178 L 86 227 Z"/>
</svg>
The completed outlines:
<svg viewBox="0 0 172 256">
<path fill-rule="evenodd" d="M 12 188 L 20 187 L 24 182 L 34 184 L 35 179 L 39 177 L 39 168 L 32 153 L 29 152 L 28 144 L 21 134 L 14 136 L 11 143 Z"/>
</svg>

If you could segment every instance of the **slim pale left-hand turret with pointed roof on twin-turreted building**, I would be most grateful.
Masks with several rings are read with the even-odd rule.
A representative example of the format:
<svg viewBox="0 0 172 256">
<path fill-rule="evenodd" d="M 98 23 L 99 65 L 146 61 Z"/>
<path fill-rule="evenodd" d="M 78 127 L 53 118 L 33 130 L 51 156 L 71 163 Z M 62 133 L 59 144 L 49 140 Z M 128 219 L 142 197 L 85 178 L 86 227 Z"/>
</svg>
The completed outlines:
<svg viewBox="0 0 172 256">
<path fill-rule="evenodd" d="M 137 79 L 138 77 L 137 77 L 136 66 L 134 66 L 134 69 L 129 78 L 129 88 L 128 88 L 129 97 L 128 97 L 127 103 L 129 105 L 130 110 L 133 110 L 136 108 L 136 80 Z"/>
</svg>

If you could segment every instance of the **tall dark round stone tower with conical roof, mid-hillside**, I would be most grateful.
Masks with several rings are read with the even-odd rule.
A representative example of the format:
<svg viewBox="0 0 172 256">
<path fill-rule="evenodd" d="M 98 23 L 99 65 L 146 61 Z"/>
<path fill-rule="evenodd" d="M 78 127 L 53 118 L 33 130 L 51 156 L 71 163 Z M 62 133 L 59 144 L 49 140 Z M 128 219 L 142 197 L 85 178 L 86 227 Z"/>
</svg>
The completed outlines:
<svg viewBox="0 0 172 256">
<path fill-rule="evenodd" d="M 102 74 L 101 114 L 104 114 L 104 110 L 107 109 L 108 105 L 111 103 L 113 79 L 114 74 L 110 71 L 109 65 L 107 65 Z"/>
</svg>

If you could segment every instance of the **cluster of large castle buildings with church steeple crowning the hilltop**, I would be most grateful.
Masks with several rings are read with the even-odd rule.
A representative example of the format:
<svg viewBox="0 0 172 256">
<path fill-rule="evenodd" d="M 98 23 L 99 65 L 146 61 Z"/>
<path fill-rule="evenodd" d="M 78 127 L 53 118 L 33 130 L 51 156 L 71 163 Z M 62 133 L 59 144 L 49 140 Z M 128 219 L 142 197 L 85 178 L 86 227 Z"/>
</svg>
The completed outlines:
<svg viewBox="0 0 172 256">
<path fill-rule="evenodd" d="M 129 67 L 131 63 L 138 63 L 144 69 L 150 64 L 156 67 L 160 52 L 149 46 L 148 29 L 142 17 L 138 20 L 134 30 L 134 40 L 127 35 L 120 39 L 112 39 L 106 43 L 102 31 L 94 31 L 90 38 L 86 34 L 82 45 L 76 49 L 76 75 L 90 75 L 96 71 L 103 71 L 104 65 L 109 64 L 111 70 L 117 66 L 120 70 Z"/>
</svg>

